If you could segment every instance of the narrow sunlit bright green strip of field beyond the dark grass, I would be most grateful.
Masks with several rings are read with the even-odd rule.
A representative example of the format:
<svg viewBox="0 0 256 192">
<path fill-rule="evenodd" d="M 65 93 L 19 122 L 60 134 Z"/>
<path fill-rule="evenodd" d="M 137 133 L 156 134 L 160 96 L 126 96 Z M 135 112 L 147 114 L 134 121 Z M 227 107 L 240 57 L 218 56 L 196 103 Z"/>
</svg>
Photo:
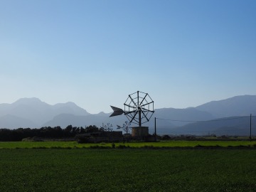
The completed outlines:
<svg viewBox="0 0 256 192">
<path fill-rule="evenodd" d="M 115 143 L 115 146 L 126 147 L 195 147 L 195 146 L 250 146 L 256 147 L 256 142 L 249 141 L 168 141 L 168 142 L 129 142 Z M 78 142 L 0 142 L 0 149 L 17 148 L 92 148 L 112 147 L 111 143 L 78 144 Z"/>
</svg>

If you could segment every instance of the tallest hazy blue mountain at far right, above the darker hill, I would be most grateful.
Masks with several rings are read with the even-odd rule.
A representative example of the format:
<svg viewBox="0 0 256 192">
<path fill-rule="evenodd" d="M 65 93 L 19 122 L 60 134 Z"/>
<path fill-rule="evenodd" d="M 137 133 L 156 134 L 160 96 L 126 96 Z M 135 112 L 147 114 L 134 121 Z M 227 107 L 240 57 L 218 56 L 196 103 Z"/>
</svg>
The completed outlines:
<svg viewBox="0 0 256 192">
<path fill-rule="evenodd" d="M 256 114 L 256 95 L 242 95 L 226 100 L 207 102 L 199 105 L 196 109 L 209 112 L 216 118 Z"/>
</svg>

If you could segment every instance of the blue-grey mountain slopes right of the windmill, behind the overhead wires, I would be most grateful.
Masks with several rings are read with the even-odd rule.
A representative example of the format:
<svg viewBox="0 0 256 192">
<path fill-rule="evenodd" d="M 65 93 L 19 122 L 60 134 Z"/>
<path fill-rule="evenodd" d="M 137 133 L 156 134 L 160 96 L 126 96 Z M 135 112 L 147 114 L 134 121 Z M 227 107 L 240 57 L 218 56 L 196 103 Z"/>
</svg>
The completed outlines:
<svg viewBox="0 0 256 192">
<path fill-rule="evenodd" d="M 248 135 L 248 119 L 234 119 L 218 122 L 218 118 L 240 117 L 256 115 L 256 95 L 242 95 L 231 97 L 226 100 L 208 102 L 198 107 L 186 109 L 159 109 L 156 110 L 156 117 L 171 119 L 170 121 L 157 119 L 157 129 L 159 134 L 202 134 L 215 132 L 216 134 L 238 134 Z M 253 117 L 256 118 L 256 117 Z M 252 119 L 253 119 L 252 118 Z M 213 122 L 207 121 L 217 119 Z M 167 122 L 169 124 L 167 124 Z M 224 132 L 225 131 L 225 132 Z M 255 132 L 256 134 L 256 132 Z"/>
</svg>

